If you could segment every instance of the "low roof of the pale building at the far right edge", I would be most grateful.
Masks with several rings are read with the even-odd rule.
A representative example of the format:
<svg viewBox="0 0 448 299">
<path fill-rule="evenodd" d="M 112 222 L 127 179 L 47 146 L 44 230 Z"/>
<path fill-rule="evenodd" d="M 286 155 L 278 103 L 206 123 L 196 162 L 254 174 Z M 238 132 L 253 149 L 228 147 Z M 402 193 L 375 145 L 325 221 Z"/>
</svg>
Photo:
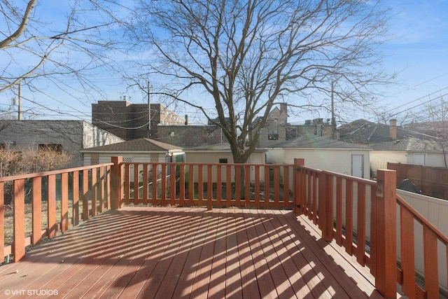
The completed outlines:
<svg viewBox="0 0 448 299">
<path fill-rule="evenodd" d="M 372 146 L 374 151 L 412 151 L 424 153 L 443 153 L 444 148 L 448 150 L 448 144 L 442 144 L 440 141 L 423 140 L 414 137 L 398 139 L 394 141 L 375 144 Z"/>
</svg>

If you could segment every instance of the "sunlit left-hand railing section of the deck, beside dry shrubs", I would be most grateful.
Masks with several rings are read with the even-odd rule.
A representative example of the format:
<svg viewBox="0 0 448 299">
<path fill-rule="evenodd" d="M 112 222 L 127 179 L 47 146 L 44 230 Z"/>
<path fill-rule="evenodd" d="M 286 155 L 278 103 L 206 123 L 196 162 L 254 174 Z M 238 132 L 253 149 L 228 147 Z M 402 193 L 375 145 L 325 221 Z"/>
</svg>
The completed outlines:
<svg viewBox="0 0 448 299">
<path fill-rule="evenodd" d="M 110 209 L 112 165 L 0 177 L 0 239 L 11 240 L 0 242 L 0 262 L 11 253 L 17 262 L 27 246 Z"/>
</svg>

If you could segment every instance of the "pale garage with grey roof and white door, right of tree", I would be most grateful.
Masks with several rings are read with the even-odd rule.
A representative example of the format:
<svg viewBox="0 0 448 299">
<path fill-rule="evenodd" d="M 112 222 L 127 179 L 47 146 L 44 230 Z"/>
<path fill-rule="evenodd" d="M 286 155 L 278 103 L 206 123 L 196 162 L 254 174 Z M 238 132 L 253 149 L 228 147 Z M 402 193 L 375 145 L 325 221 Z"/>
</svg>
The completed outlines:
<svg viewBox="0 0 448 299">
<path fill-rule="evenodd" d="M 304 158 L 305 166 L 370 179 L 368 146 L 349 144 L 307 134 L 267 148 L 266 161 L 293 164 L 294 158 Z"/>
</svg>

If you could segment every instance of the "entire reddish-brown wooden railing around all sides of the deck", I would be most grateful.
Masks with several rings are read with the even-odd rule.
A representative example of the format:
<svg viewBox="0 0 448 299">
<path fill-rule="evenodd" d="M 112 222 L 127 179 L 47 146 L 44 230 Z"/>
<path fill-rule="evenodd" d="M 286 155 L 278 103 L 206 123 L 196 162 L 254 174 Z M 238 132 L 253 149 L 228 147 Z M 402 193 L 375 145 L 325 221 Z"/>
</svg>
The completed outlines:
<svg viewBox="0 0 448 299">
<path fill-rule="evenodd" d="M 391 170 L 379 170 L 377 181 L 369 181 L 311 169 L 303 159 L 295 159 L 294 165 L 241 165 L 129 163 L 114 157 L 104 165 L 3 177 L 0 186 L 3 239 L 6 186 L 12 186 L 14 211 L 13 242 L 0 242 L 0 253 L 13 253 L 14 261 L 25 256 L 27 245 L 125 204 L 294 209 L 318 225 L 323 239 L 335 239 L 360 265 L 370 267 L 386 298 L 395 298 L 397 283 L 409 298 L 438 298 L 440 286 L 447 285 L 439 277 L 448 277 L 448 239 L 396 195 Z M 32 203 L 29 233 L 26 202 Z M 420 246 L 414 241 L 419 234 L 423 284 L 416 282 L 414 263 L 420 258 L 414 250 Z"/>
</svg>

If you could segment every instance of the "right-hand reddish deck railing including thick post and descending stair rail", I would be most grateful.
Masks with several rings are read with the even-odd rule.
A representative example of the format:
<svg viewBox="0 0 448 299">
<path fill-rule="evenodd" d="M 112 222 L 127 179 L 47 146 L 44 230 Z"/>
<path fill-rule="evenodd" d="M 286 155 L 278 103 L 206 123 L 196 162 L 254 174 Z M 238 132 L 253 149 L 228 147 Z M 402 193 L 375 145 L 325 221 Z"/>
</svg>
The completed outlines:
<svg viewBox="0 0 448 299">
<path fill-rule="evenodd" d="M 379 170 L 377 181 L 369 181 L 311 169 L 302 159 L 295 170 L 295 211 L 318 225 L 323 239 L 335 239 L 369 266 L 384 297 L 396 298 L 398 283 L 407 298 L 439 298 L 440 286 L 448 285 L 439 279 L 448 277 L 448 238 L 396 194 L 395 171 Z M 416 246 L 423 246 L 423 256 L 416 256 Z M 415 267 L 419 258 L 423 275 Z"/>
</svg>

